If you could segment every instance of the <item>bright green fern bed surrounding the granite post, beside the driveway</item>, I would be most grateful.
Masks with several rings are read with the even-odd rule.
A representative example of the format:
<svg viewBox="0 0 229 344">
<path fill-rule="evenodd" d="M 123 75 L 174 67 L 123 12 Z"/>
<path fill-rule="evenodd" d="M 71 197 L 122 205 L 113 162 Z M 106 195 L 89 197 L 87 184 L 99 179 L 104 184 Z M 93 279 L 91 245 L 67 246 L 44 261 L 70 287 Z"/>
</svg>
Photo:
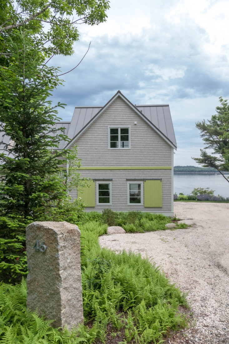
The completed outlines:
<svg viewBox="0 0 229 344">
<path fill-rule="evenodd" d="M 186 305 L 184 295 L 148 259 L 101 249 L 98 237 L 106 224 L 86 222 L 80 230 L 85 325 L 72 333 L 53 329 L 50 321 L 26 310 L 24 280 L 2 283 L 0 343 L 101 343 L 108 326 L 120 343 L 163 343 L 168 331 L 186 325 L 178 312 Z"/>
</svg>

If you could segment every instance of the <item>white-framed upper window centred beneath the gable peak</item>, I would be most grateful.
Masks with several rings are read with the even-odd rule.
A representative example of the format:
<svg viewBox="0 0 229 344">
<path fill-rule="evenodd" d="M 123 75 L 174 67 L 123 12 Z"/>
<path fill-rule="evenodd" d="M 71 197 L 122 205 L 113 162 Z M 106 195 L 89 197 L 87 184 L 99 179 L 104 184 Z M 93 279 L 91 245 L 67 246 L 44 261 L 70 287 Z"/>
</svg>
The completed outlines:
<svg viewBox="0 0 229 344">
<path fill-rule="evenodd" d="M 109 148 L 130 148 L 130 128 L 109 128 Z"/>
</svg>

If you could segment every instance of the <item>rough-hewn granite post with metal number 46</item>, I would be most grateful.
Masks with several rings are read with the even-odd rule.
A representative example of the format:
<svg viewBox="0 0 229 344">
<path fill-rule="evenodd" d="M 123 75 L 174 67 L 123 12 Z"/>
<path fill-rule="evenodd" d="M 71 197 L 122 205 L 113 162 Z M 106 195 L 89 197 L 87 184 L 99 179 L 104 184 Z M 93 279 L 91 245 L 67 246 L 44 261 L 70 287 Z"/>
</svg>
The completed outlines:
<svg viewBox="0 0 229 344">
<path fill-rule="evenodd" d="M 80 230 L 68 222 L 33 222 L 26 227 L 27 308 L 55 320 L 54 327 L 84 322 Z"/>
</svg>

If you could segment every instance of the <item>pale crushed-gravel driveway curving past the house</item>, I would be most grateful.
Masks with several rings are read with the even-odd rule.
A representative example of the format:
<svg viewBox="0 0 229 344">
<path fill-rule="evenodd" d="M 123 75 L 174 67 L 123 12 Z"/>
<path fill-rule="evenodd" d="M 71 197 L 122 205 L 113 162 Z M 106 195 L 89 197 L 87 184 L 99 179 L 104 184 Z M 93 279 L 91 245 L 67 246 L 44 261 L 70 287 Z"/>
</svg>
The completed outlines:
<svg viewBox="0 0 229 344">
<path fill-rule="evenodd" d="M 168 343 L 229 344 L 229 204 L 175 202 L 179 218 L 193 218 L 187 229 L 104 235 L 102 247 L 140 252 L 160 265 L 183 292 L 196 320 Z"/>
</svg>

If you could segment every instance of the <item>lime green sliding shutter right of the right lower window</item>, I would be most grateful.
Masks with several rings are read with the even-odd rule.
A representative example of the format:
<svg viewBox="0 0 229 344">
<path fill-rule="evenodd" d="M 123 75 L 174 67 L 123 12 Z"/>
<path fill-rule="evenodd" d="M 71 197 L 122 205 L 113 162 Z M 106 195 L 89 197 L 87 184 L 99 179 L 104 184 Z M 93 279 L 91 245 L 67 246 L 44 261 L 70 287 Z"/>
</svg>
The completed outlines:
<svg viewBox="0 0 229 344">
<path fill-rule="evenodd" d="M 144 181 L 144 207 L 162 207 L 162 181 Z"/>
</svg>

